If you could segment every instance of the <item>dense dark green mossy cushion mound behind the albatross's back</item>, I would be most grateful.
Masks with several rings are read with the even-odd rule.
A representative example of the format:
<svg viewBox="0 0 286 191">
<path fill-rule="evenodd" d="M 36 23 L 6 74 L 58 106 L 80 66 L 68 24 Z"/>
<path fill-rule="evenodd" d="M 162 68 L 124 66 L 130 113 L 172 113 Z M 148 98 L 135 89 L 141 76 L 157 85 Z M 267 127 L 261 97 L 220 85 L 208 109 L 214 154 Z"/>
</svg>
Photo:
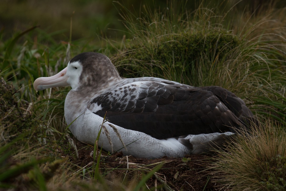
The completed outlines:
<svg viewBox="0 0 286 191">
<path fill-rule="evenodd" d="M 119 60 L 118 65 L 124 66 L 118 68 L 123 77 L 130 77 L 128 73 L 132 73 L 132 77 L 140 77 L 145 69 L 162 77 L 164 72 L 176 68 L 190 74 L 190 81 L 195 81 L 196 69 L 201 64 L 206 64 L 201 63 L 201 58 L 210 65 L 215 60 L 227 58 L 240 44 L 237 36 L 226 30 L 212 28 L 207 31 L 168 34 L 140 42 L 130 41 L 127 50 L 116 60 Z M 204 68 L 208 70 L 208 66 Z"/>
</svg>

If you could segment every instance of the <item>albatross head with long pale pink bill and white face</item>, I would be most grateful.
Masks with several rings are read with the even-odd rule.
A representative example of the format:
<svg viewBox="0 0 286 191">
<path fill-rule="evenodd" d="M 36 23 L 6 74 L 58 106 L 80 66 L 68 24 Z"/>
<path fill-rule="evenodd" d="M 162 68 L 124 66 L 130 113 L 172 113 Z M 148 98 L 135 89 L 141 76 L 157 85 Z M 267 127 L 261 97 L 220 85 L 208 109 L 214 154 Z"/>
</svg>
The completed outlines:
<svg viewBox="0 0 286 191">
<path fill-rule="evenodd" d="M 34 82 L 35 90 L 58 86 L 93 89 L 110 81 L 121 79 L 112 62 L 105 55 L 95 52 L 81 53 L 69 61 L 67 67 L 50 77 L 40 77 Z"/>
</svg>

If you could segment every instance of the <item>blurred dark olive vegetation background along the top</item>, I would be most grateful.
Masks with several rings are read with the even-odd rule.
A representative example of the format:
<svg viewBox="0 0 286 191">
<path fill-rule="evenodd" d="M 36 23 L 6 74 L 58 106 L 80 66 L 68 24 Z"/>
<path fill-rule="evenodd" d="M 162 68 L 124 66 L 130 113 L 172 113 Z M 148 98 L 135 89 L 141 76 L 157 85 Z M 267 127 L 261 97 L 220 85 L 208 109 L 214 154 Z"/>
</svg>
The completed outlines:
<svg viewBox="0 0 286 191">
<path fill-rule="evenodd" d="M 170 6 L 181 8 L 181 1 L 172 3 L 166 0 L 130 0 L 118 1 L 132 13 L 138 14 L 144 5 L 154 9 Z M 211 1 L 193 0 L 183 1 L 187 10 L 194 11 L 200 4 L 203 7 L 219 7 L 220 13 L 228 11 L 235 5 L 236 9 L 245 11 L 249 9 L 254 12 L 264 9 L 273 4 L 268 0 L 241 1 Z M 111 38 L 122 38 L 128 33 L 118 13 L 117 3 L 112 0 L 1 0 L 0 1 L 0 30 L 3 32 L 1 39 L 10 38 L 15 32 L 24 31 L 32 26 L 39 26 L 40 30 L 52 33 L 55 40 L 69 40 L 72 19 L 72 40 L 88 38 L 97 41 L 98 36 Z M 275 7 L 285 7 L 286 1 L 275 1 Z M 263 8 L 264 7 L 264 8 Z M 37 32 L 35 32 L 36 34 Z"/>
</svg>

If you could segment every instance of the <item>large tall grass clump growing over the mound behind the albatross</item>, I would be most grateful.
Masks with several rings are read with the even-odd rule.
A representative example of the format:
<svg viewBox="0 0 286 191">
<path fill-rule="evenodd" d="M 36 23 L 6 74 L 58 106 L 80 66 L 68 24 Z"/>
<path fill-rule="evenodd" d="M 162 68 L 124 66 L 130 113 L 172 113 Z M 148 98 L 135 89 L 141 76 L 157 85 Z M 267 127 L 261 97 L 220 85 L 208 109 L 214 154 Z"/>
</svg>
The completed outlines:
<svg viewBox="0 0 286 191">
<path fill-rule="evenodd" d="M 226 61 L 241 52 L 242 40 L 223 27 L 212 9 L 201 6 L 184 12 L 182 3 L 171 2 L 155 11 L 143 6 L 140 15 L 134 15 L 119 5 L 132 36 L 112 57 L 124 77 L 155 76 L 193 86 L 211 85 L 217 80 L 213 73 L 226 70 Z"/>
</svg>

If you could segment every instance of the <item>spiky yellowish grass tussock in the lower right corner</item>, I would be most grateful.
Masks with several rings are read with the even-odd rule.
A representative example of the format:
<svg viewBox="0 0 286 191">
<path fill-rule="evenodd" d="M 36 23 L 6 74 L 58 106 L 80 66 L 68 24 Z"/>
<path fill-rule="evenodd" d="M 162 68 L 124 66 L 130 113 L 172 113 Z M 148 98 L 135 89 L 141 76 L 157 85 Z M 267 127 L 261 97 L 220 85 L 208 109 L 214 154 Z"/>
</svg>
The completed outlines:
<svg viewBox="0 0 286 191">
<path fill-rule="evenodd" d="M 210 168 L 221 189 L 286 190 L 285 130 L 270 122 L 262 126 L 253 136 L 243 133 L 214 158 Z"/>
</svg>

